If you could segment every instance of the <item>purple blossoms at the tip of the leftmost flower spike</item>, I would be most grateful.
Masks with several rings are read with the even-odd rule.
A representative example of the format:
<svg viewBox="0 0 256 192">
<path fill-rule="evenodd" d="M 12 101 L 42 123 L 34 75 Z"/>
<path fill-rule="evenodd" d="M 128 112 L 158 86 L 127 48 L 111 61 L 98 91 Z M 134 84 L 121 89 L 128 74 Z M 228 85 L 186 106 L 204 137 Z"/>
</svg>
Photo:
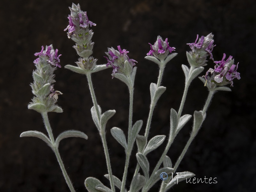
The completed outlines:
<svg viewBox="0 0 256 192">
<path fill-rule="evenodd" d="M 54 51 L 52 48 L 52 45 L 47 46 L 47 48 L 44 51 L 44 46 L 42 46 L 41 52 L 37 52 L 34 54 L 35 56 L 39 56 L 36 60 L 34 60 L 35 64 L 38 64 L 42 60 L 46 60 L 48 63 L 50 63 L 53 66 L 61 67 L 60 66 L 60 56 L 58 55 L 58 49 Z"/>
</svg>

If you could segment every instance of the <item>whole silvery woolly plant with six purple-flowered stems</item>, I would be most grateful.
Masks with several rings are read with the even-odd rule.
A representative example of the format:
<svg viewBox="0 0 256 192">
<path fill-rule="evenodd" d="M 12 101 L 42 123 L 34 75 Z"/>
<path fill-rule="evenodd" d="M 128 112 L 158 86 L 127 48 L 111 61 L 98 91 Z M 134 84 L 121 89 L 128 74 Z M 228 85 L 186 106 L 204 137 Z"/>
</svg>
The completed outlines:
<svg viewBox="0 0 256 192">
<path fill-rule="evenodd" d="M 226 54 L 224 53 L 221 61 L 214 61 L 214 63 L 216 64 L 214 66 L 214 69 L 210 68 L 209 70 L 207 70 L 205 76 L 199 77 L 201 81 L 203 81 L 204 85 L 208 88 L 209 95 L 207 100 L 205 101 L 203 109 L 194 112 L 193 127 L 190 133 L 189 140 L 176 163 L 172 164 L 171 158 L 167 156 L 167 153 L 179 131 L 192 117 L 192 115 L 189 114 L 182 115 L 182 110 L 187 97 L 188 88 L 191 82 L 197 76 L 199 76 L 200 73 L 203 72 L 204 66 L 207 65 L 208 57 L 210 60 L 214 60 L 212 51 L 214 46 L 216 46 L 214 45 L 213 35 L 211 33 L 205 37 L 201 36 L 200 38 L 197 35 L 195 43 L 188 44 L 191 51 L 187 52 L 189 67 L 186 65 L 182 65 L 182 69 L 185 75 L 185 88 L 180 103 L 180 108 L 178 111 L 173 108 L 171 109 L 168 141 L 163 154 L 159 158 L 153 172 L 150 174 L 147 155 L 151 151 L 158 148 L 164 142 L 166 136 L 157 135 L 151 139 L 148 139 L 148 135 L 150 131 L 154 108 L 157 101 L 166 90 L 166 87 L 161 86 L 164 68 L 170 60 L 177 56 L 177 53 L 174 52 L 175 47 L 171 47 L 169 45 L 168 38 L 165 38 L 165 40 L 163 40 L 161 36 L 157 36 L 156 42 L 153 45 L 149 43 L 150 50 L 147 53 L 145 59 L 153 61 L 159 66 L 159 75 L 157 83 L 150 84 L 149 89 L 151 103 L 149 107 L 148 120 L 145 125 L 144 135 L 139 135 L 139 132 L 143 127 L 142 120 L 136 121 L 135 123 L 132 122 L 134 82 L 137 69 L 137 67 L 134 66 L 137 61 L 134 59 L 130 59 L 130 57 L 128 56 L 129 51 L 121 49 L 120 46 L 117 46 L 117 50 L 113 47 L 108 48 L 108 52 L 106 52 L 107 56 L 104 56 L 107 60 L 107 64 L 97 65 L 97 59 L 92 56 L 94 43 L 92 42 L 93 32 L 90 29 L 90 27 L 95 26 L 96 24 L 88 19 L 87 13 L 81 10 L 79 4 L 72 4 L 70 11 L 71 14 L 68 16 L 69 24 L 67 28 L 64 29 L 64 31 L 68 30 L 68 38 L 71 38 L 75 42 L 75 45 L 73 47 L 75 48 L 80 58 L 78 58 L 78 61 L 75 62 L 76 66 L 66 65 L 65 68 L 79 74 L 84 74 L 87 78 L 93 103 L 93 107 L 91 108 L 92 120 L 100 133 L 100 138 L 106 157 L 106 165 L 108 168 L 108 174 L 104 176 L 109 180 L 110 183 L 109 188 L 103 185 L 100 180 L 89 177 L 84 182 L 85 188 L 89 192 L 115 192 L 116 188 L 118 188 L 121 192 L 127 192 L 128 190 L 126 189 L 126 180 L 130 158 L 135 143 L 137 145 L 137 166 L 131 181 L 131 185 L 129 187 L 130 192 L 147 192 L 160 179 L 163 180 L 163 182 L 161 184 L 159 192 L 165 192 L 172 188 L 173 185 L 178 183 L 178 181 L 186 180 L 195 176 L 193 173 L 188 171 L 176 172 L 176 170 L 180 165 L 180 162 L 183 159 L 185 153 L 187 152 L 192 140 L 195 138 L 196 134 L 200 130 L 204 119 L 206 118 L 206 111 L 210 105 L 213 95 L 217 91 L 231 91 L 231 89 L 226 87 L 225 85 L 230 84 L 231 86 L 233 86 L 233 80 L 235 78 L 240 79 L 240 74 L 237 72 L 238 64 L 234 64 L 234 59 L 232 60 L 232 56 L 225 60 Z M 38 131 L 27 131 L 21 133 L 20 137 L 32 136 L 40 138 L 52 148 L 60 164 L 60 168 L 68 184 L 68 187 L 70 191 L 74 192 L 75 188 L 73 187 L 73 184 L 68 177 L 64 164 L 60 157 L 58 149 L 59 142 L 60 140 L 68 137 L 81 137 L 84 139 L 87 139 L 88 137 L 83 132 L 68 130 L 60 133 L 60 135 L 56 139 L 54 139 L 52 134 L 52 128 L 48 119 L 48 112 L 62 112 L 62 109 L 58 105 L 56 105 L 58 95 L 61 95 L 62 93 L 60 91 L 55 91 L 53 88 L 53 83 L 55 82 L 53 72 L 57 69 L 57 67 L 60 68 L 60 55 L 58 55 L 58 49 L 54 51 L 52 45 L 50 45 L 46 46 L 45 50 L 42 46 L 41 52 L 35 53 L 35 56 L 39 56 L 39 58 L 34 60 L 36 70 L 33 71 L 34 82 L 31 84 L 32 92 L 35 96 L 32 99 L 32 102 L 28 104 L 28 108 L 34 109 L 37 112 L 41 113 L 44 120 L 45 128 L 48 132 L 48 136 Z M 110 67 L 113 68 L 111 74 L 112 78 L 115 77 L 124 82 L 129 89 L 130 96 L 128 116 L 129 124 L 127 136 L 125 135 L 124 131 L 118 127 L 113 127 L 110 130 L 112 136 L 124 148 L 126 156 L 122 180 L 113 175 L 106 138 L 107 122 L 112 116 L 115 115 L 116 111 L 108 110 L 102 112 L 100 105 L 98 105 L 97 102 L 91 77 L 92 73 Z M 175 172 L 176 175 L 174 177 L 170 177 L 170 175 L 173 175 Z M 165 177 L 163 175 L 165 175 Z"/>
</svg>

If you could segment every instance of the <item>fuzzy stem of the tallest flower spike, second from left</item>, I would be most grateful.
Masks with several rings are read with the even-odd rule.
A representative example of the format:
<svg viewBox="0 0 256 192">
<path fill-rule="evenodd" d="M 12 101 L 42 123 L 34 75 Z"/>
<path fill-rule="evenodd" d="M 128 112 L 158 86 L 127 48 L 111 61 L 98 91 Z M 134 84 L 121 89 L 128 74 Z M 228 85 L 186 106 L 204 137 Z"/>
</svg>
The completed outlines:
<svg viewBox="0 0 256 192">
<path fill-rule="evenodd" d="M 98 118 L 98 122 L 99 122 L 99 125 L 100 125 L 100 115 L 101 114 L 100 114 L 100 109 L 98 107 L 96 95 L 95 95 L 95 92 L 94 92 L 94 89 L 93 89 L 93 85 L 92 85 L 91 73 L 90 74 L 86 74 L 86 77 L 87 77 L 89 89 L 90 89 L 91 96 L 92 96 L 93 106 L 96 109 L 97 118 Z M 113 192 L 115 192 L 115 185 L 114 185 L 113 174 L 112 174 L 110 158 L 109 158 L 109 153 L 108 153 L 108 145 L 107 145 L 107 140 L 106 140 L 106 133 L 104 131 L 102 131 L 101 127 L 100 127 L 99 131 L 100 131 L 100 137 L 101 137 L 101 141 L 102 141 L 102 145 L 103 145 L 103 149 L 104 149 L 104 153 L 105 153 L 105 157 L 106 157 L 106 163 L 107 163 L 107 168 L 108 168 L 110 187 L 111 187 L 111 190 Z"/>
</svg>

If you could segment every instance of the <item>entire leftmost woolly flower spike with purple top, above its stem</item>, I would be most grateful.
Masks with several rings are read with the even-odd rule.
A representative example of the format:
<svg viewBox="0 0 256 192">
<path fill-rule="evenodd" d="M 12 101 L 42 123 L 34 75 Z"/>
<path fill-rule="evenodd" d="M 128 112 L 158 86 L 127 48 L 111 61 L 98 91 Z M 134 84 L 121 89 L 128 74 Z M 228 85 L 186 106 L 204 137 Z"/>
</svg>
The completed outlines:
<svg viewBox="0 0 256 192">
<path fill-rule="evenodd" d="M 35 53 L 39 56 L 34 60 L 36 69 L 33 71 L 34 82 L 30 84 L 32 92 L 35 95 L 28 108 L 37 112 L 62 112 L 62 109 L 56 105 L 60 91 L 54 91 L 53 72 L 60 67 L 60 55 L 58 49 L 54 50 L 52 45 L 42 46 L 41 52 Z"/>
</svg>

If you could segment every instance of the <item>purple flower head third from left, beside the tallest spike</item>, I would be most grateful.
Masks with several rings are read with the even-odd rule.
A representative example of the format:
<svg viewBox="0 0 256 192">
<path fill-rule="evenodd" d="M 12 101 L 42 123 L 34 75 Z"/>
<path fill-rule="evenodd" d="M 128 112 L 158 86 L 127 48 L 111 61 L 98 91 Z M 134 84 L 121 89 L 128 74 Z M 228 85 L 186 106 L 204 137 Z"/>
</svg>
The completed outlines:
<svg viewBox="0 0 256 192">
<path fill-rule="evenodd" d="M 131 68 L 132 68 L 132 66 L 135 65 L 135 62 L 137 62 L 136 60 L 130 59 L 127 55 L 127 53 L 129 51 L 126 51 L 125 49 L 122 50 L 120 45 L 117 46 L 117 49 L 118 49 L 118 51 L 115 50 L 113 47 L 108 48 L 108 52 L 105 52 L 108 55 L 108 57 L 104 56 L 108 61 L 106 66 L 108 67 L 109 65 L 111 65 L 113 68 L 113 71 L 111 74 L 112 79 L 114 78 L 116 72 L 125 74 L 124 73 L 124 62 L 125 61 L 129 62 Z"/>
</svg>

